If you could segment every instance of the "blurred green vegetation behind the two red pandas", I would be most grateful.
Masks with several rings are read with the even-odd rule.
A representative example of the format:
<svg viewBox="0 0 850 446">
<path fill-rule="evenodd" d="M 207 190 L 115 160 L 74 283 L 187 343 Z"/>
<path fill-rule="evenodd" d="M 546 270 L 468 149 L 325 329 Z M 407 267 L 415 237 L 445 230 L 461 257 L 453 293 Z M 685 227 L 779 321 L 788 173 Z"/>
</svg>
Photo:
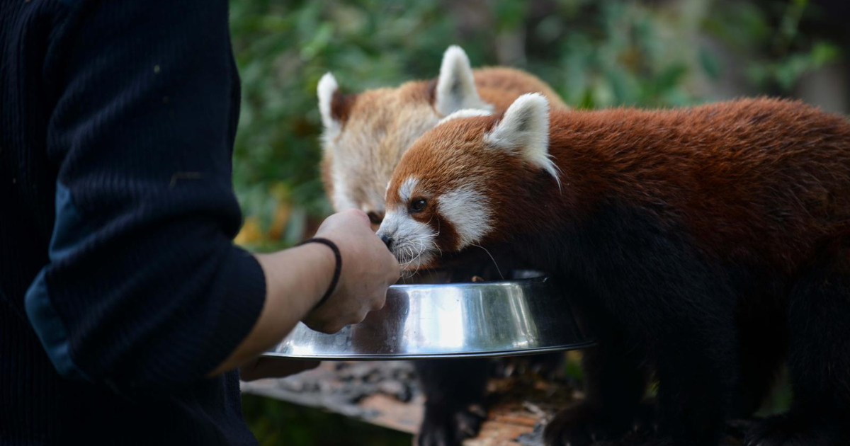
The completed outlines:
<svg viewBox="0 0 850 446">
<path fill-rule="evenodd" d="M 394 86 L 436 76 L 445 48 L 460 44 L 473 65 L 529 70 L 576 108 L 805 96 L 825 87 L 810 79 L 825 70 L 838 73 L 825 88 L 835 89 L 841 105 L 850 42 L 844 3 L 231 0 L 242 80 L 234 182 L 246 215 L 238 241 L 286 246 L 330 212 L 318 174 L 315 97 L 326 71 L 347 91 Z M 330 419 L 299 418 L 282 407 L 246 400 L 264 443 L 321 443 L 309 432 Z M 285 424 L 296 432 L 286 442 L 274 433 Z"/>
</svg>

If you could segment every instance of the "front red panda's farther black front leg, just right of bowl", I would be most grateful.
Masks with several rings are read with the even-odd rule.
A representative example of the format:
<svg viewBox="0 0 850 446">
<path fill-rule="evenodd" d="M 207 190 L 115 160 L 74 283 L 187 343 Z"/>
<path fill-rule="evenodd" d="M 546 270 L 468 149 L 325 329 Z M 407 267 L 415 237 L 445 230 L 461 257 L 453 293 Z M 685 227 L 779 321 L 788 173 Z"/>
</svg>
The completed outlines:
<svg viewBox="0 0 850 446">
<path fill-rule="evenodd" d="M 547 446 L 585 446 L 615 440 L 638 422 L 647 373 L 635 348 L 605 318 L 592 318 L 597 345 L 583 352 L 586 398 L 564 409 L 544 431 Z"/>
</svg>

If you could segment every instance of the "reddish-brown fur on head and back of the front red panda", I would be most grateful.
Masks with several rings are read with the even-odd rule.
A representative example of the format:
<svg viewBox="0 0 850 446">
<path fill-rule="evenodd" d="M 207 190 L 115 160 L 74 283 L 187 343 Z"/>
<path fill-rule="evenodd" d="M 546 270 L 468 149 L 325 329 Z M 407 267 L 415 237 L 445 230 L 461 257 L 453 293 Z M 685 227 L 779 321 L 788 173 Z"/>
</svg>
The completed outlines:
<svg viewBox="0 0 850 446">
<path fill-rule="evenodd" d="M 423 135 L 394 173 L 388 206 L 411 175 L 435 196 L 484 184 L 497 216 L 487 244 L 578 222 L 620 200 L 684 226 L 706 254 L 785 273 L 850 231 L 850 125 L 799 102 L 554 110 L 549 150 L 563 192 L 515 155 L 484 146 L 499 119 L 459 119 Z M 443 241 L 444 251 L 455 246 Z"/>
</svg>

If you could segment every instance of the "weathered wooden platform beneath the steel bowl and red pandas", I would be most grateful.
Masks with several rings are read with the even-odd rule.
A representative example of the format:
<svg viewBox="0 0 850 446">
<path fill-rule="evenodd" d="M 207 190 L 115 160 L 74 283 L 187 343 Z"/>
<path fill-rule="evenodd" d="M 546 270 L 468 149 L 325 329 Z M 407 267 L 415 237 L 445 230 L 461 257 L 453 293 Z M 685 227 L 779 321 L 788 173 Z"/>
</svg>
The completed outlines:
<svg viewBox="0 0 850 446">
<path fill-rule="evenodd" d="M 243 382 L 242 392 L 329 410 L 414 436 L 422 421 L 424 397 L 411 364 L 401 361 L 326 362 L 280 380 Z M 545 422 L 582 398 L 563 379 L 544 380 L 532 374 L 492 377 L 488 394 L 487 420 L 478 438 L 468 439 L 465 446 L 542 446 Z M 730 426 L 729 446 L 740 444 L 735 432 L 741 428 Z"/>
</svg>

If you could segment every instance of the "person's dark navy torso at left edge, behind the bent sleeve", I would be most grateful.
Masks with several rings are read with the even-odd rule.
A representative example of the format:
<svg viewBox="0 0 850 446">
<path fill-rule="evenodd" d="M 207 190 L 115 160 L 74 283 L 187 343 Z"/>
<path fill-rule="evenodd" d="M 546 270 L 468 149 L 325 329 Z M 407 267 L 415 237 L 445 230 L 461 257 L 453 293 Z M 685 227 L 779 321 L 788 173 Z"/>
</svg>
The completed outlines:
<svg viewBox="0 0 850 446">
<path fill-rule="evenodd" d="M 61 67 L 59 0 L 0 0 L 0 446 L 256 444 L 238 374 L 159 391 L 115 392 L 63 379 L 26 317 L 48 264 L 58 175 L 47 147 Z M 238 87 L 238 86 L 237 86 Z"/>
</svg>

